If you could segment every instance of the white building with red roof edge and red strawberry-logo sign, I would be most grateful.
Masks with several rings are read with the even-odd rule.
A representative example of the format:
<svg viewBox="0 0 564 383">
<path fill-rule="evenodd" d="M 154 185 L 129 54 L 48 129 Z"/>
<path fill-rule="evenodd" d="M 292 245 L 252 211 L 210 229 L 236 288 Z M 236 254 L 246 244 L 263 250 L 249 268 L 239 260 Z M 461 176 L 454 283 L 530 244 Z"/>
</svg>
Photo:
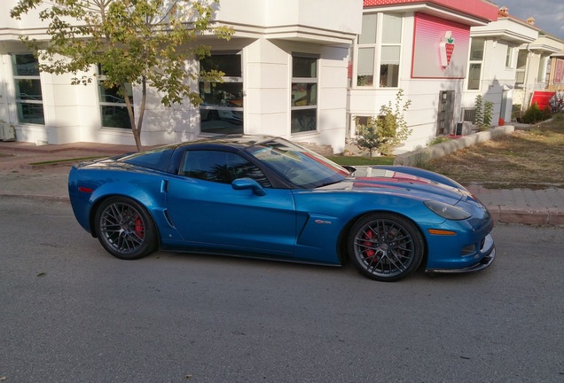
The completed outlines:
<svg viewBox="0 0 564 383">
<path fill-rule="evenodd" d="M 364 0 L 352 52 L 350 135 L 356 117 L 378 114 L 400 89 L 411 100 L 404 117 L 412 133 L 397 152 L 450 134 L 461 121 L 471 27 L 496 19 L 497 6 L 481 0 Z"/>
</svg>

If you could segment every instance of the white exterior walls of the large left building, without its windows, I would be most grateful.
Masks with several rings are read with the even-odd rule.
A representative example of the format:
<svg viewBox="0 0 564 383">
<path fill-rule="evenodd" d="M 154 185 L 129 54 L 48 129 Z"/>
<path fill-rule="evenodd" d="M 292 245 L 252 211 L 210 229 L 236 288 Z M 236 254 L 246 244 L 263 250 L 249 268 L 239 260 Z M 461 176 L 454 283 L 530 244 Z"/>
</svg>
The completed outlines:
<svg viewBox="0 0 564 383">
<path fill-rule="evenodd" d="M 7 0 L 12 8 L 17 0 Z M 347 52 L 360 32 L 362 0 L 224 0 L 218 4 L 218 20 L 232 25 L 235 35 L 226 42 L 208 38 L 212 51 L 239 51 L 243 59 L 245 132 L 271 134 L 297 141 L 333 145 L 344 149 L 347 105 Z M 347 12 L 341 12 L 346 9 Z M 27 52 L 17 34 L 41 35 L 45 24 L 30 12 L 23 20 L 0 15 L 0 119 L 18 120 L 14 105 L 10 53 Z M 37 29 L 31 29 L 31 28 Z M 14 32 L 13 34 L 11 34 Z M 317 54 L 318 129 L 292 135 L 290 131 L 292 52 Z M 197 69 L 196 63 L 188 63 Z M 92 68 L 94 72 L 95 68 Z M 79 74 L 80 75 L 80 74 Z M 134 145 L 129 130 L 101 127 L 98 84 L 71 85 L 70 74 L 41 74 L 45 125 L 17 125 L 18 139 L 63 144 L 75 141 Z M 192 82 L 198 89 L 198 82 Z M 134 87 L 136 109 L 140 87 Z M 137 117 L 137 115 L 136 115 Z M 200 113 L 188 100 L 170 108 L 161 105 L 161 95 L 148 90 L 141 141 L 143 145 L 192 140 L 200 135 Z"/>
</svg>

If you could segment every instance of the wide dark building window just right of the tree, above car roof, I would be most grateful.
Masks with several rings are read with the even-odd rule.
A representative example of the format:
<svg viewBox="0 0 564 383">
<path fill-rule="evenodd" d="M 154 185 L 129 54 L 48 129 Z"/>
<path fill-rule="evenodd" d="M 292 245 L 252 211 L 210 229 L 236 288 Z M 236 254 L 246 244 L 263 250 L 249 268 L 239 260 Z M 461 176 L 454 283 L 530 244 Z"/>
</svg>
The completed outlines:
<svg viewBox="0 0 564 383">
<path fill-rule="evenodd" d="M 212 54 L 200 59 L 200 129 L 202 133 L 243 133 L 243 74 L 241 55 Z M 203 74 L 223 72 L 223 82 L 206 81 Z"/>
</svg>

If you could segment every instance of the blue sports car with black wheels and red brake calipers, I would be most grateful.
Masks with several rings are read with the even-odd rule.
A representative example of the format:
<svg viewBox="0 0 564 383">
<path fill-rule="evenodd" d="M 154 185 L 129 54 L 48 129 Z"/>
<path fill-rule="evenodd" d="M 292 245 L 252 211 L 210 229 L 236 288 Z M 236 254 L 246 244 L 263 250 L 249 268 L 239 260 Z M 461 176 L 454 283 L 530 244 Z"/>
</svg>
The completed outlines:
<svg viewBox="0 0 564 383">
<path fill-rule="evenodd" d="M 114 256 L 161 248 L 280 261 L 353 262 L 380 281 L 490 266 L 490 213 L 419 168 L 342 168 L 279 138 L 224 136 L 75 165 L 78 223 Z"/>
</svg>

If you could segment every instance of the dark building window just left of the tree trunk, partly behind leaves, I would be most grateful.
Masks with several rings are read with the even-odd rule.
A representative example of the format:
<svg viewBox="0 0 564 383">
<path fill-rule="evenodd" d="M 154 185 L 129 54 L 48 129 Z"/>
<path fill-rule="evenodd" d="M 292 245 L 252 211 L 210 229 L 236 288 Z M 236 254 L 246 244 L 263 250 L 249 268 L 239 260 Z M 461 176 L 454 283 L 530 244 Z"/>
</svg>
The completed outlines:
<svg viewBox="0 0 564 383">
<path fill-rule="evenodd" d="M 128 108 L 125 98 L 118 87 L 107 88 L 104 69 L 98 65 L 98 93 L 100 95 L 100 115 L 103 128 L 131 129 Z M 133 106 L 133 88 L 129 82 L 125 84 L 125 91 L 131 106 Z"/>
</svg>

